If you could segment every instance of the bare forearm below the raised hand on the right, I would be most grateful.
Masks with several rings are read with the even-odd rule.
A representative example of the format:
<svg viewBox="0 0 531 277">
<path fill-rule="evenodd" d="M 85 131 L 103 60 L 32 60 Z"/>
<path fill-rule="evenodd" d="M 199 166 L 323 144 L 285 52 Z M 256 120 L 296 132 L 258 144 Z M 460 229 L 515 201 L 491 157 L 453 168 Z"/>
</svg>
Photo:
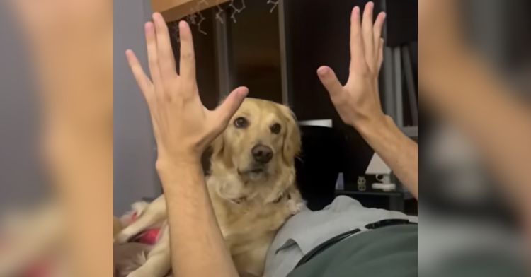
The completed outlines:
<svg viewBox="0 0 531 277">
<path fill-rule="evenodd" d="M 370 120 L 356 129 L 418 199 L 418 144 L 402 133 L 391 117 Z"/>
</svg>

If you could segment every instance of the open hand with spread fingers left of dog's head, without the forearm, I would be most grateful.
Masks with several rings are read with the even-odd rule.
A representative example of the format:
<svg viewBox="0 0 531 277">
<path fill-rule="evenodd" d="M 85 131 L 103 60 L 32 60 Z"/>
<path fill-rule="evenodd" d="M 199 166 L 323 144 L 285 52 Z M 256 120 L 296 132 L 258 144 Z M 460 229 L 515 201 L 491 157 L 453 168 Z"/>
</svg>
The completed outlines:
<svg viewBox="0 0 531 277">
<path fill-rule="evenodd" d="M 181 64 L 177 73 L 164 18 L 155 13 L 153 20 L 145 25 L 151 79 L 135 54 L 131 50 L 126 54 L 149 107 L 159 160 L 198 158 L 227 126 L 248 90 L 236 88 L 216 110 L 208 110 L 199 98 L 190 27 L 184 21 L 179 24 Z"/>
</svg>

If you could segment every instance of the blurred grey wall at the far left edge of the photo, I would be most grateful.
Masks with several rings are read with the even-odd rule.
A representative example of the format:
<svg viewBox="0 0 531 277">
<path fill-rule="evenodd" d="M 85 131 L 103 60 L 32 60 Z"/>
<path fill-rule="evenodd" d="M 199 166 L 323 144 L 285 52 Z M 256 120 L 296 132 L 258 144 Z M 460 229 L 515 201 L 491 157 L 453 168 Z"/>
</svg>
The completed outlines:
<svg viewBox="0 0 531 277">
<path fill-rule="evenodd" d="M 0 212 L 45 191 L 37 155 L 38 95 L 14 19 L 0 1 Z"/>
</svg>

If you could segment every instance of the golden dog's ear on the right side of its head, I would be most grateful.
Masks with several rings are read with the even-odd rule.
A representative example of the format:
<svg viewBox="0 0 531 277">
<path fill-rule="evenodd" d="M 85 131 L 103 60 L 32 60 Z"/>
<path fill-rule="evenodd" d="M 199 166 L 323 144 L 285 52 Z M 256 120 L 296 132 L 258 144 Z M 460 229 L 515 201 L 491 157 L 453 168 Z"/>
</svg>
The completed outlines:
<svg viewBox="0 0 531 277">
<path fill-rule="evenodd" d="M 293 165 L 295 157 L 299 155 L 301 148 L 300 130 L 295 114 L 289 107 L 282 106 L 282 116 L 286 122 L 284 146 L 282 146 L 282 158 L 288 165 Z"/>
</svg>

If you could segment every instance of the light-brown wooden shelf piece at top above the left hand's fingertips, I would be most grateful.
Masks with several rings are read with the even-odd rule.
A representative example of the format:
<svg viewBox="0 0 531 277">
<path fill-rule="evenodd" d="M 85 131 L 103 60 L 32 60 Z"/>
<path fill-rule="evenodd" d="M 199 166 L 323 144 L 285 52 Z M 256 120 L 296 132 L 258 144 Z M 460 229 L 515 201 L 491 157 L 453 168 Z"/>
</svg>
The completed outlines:
<svg viewBox="0 0 531 277">
<path fill-rule="evenodd" d="M 164 19 L 171 22 L 227 1 L 229 0 L 152 0 L 152 9 L 162 13 Z"/>
</svg>

